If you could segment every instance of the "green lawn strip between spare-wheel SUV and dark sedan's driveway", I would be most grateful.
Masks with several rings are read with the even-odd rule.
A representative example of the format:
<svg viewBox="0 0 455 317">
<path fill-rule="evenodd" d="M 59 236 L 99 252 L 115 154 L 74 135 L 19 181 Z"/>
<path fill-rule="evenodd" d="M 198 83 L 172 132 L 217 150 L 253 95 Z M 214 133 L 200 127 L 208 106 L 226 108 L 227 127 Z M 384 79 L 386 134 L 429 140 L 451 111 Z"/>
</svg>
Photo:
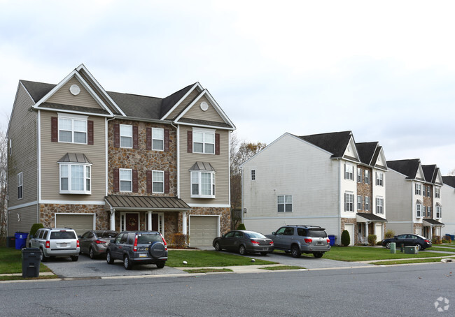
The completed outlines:
<svg viewBox="0 0 455 317">
<path fill-rule="evenodd" d="M 234 253 L 225 253 L 217 251 L 187 251 L 187 250 L 169 250 L 166 266 L 169 267 L 223 267 L 234 265 L 262 265 L 275 264 L 267 260 L 239 256 Z M 186 265 L 183 264 L 186 261 Z"/>
</svg>

